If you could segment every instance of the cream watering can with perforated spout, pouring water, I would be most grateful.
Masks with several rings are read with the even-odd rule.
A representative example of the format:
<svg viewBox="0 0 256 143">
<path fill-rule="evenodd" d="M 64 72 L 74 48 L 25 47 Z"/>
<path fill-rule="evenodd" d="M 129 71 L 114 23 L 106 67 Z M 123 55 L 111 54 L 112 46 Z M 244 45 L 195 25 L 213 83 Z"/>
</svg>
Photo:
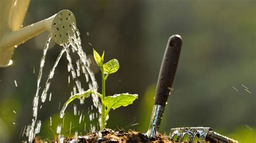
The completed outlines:
<svg viewBox="0 0 256 143">
<path fill-rule="evenodd" d="M 58 44 L 68 43 L 75 33 L 76 18 L 69 10 L 62 10 L 40 22 L 22 27 L 30 0 L 0 1 L 0 67 L 12 64 L 15 47 L 48 30 Z"/>
</svg>

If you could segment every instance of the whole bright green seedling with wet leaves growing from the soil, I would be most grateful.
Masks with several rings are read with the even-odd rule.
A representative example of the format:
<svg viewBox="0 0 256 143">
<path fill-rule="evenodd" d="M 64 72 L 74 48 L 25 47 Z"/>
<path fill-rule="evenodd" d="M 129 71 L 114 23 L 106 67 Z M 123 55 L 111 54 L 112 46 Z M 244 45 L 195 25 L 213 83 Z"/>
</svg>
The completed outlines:
<svg viewBox="0 0 256 143">
<path fill-rule="evenodd" d="M 73 100 L 75 100 L 76 98 L 77 99 L 88 98 L 90 97 L 91 94 L 96 94 L 99 96 L 99 98 L 102 101 L 101 116 L 99 119 L 100 131 L 102 131 L 105 128 L 106 117 L 109 114 L 111 109 L 117 109 L 120 106 L 127 106 L 129 104 L 132 104 L 135 99 L 138 99 L 137 94 L 129 94 L 129 93 L 106 96 L 105 83 L 106 83 L 107 77 L 109 77 L 110 74 L 116 73 L 116 71 L 119 69 L 119 63 L 116 59 L 112 59 L 104 63 L 104 54 L 105 52 L 103 52 L 102 56 L 100 56 L 95 51 L 95 49 L 93 49 L 93 55 L 94 55 L 95 61 L 102 73 L 102 94 L 96 93 L 91 89 L 80 92 L 79 94 L 71 96 L 69 100 L 64 104 L 63 109 L 60 112 L 60 117 L 63 117 L 66 107 Z"/>
</svg>

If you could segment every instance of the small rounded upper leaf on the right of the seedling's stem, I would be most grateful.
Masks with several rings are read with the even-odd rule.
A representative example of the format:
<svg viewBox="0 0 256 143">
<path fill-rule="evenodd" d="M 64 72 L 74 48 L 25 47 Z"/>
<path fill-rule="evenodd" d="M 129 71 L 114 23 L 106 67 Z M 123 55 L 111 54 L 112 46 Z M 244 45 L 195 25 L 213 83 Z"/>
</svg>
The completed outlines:
<svg viewBox="0 0 256 143">
<path fill-rule="evenodd" d="M 104 73 L 105 74 L 113 74 L 119 69 L 119 63 L 117 59 L 112 59 L 103 65 Z"/>
</svg>

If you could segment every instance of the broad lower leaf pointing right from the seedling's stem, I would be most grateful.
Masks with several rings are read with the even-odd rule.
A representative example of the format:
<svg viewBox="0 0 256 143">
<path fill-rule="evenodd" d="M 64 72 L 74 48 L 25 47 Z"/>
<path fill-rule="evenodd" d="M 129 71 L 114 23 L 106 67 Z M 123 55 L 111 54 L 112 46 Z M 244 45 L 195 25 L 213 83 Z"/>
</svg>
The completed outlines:
<svg viewBox="0 0 256 143">
<path fill-rule="evenodd" d="M 132 104 L 135 99 L 138 99 L 137 94 L 116 94 L 105 97 L 102 100 L 102 103 L 107 107 L 107 110 L 110 110 Z"/>
</svg>

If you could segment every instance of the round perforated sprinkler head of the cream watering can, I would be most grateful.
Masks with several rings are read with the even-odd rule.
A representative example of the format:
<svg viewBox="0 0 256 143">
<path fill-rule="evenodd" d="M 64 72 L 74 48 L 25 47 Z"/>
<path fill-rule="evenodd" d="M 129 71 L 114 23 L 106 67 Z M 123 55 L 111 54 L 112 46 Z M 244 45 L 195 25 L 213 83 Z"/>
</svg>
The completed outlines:
<svg viewBox="0 0 256 143">
<path fill-rule="evenodd" d="M 52 21 L 52 39 L 58 45 L 68 44 L 70 36 L 76 32 L 76 18 L 69 10 L 59 11 Z"/>
</svg>

